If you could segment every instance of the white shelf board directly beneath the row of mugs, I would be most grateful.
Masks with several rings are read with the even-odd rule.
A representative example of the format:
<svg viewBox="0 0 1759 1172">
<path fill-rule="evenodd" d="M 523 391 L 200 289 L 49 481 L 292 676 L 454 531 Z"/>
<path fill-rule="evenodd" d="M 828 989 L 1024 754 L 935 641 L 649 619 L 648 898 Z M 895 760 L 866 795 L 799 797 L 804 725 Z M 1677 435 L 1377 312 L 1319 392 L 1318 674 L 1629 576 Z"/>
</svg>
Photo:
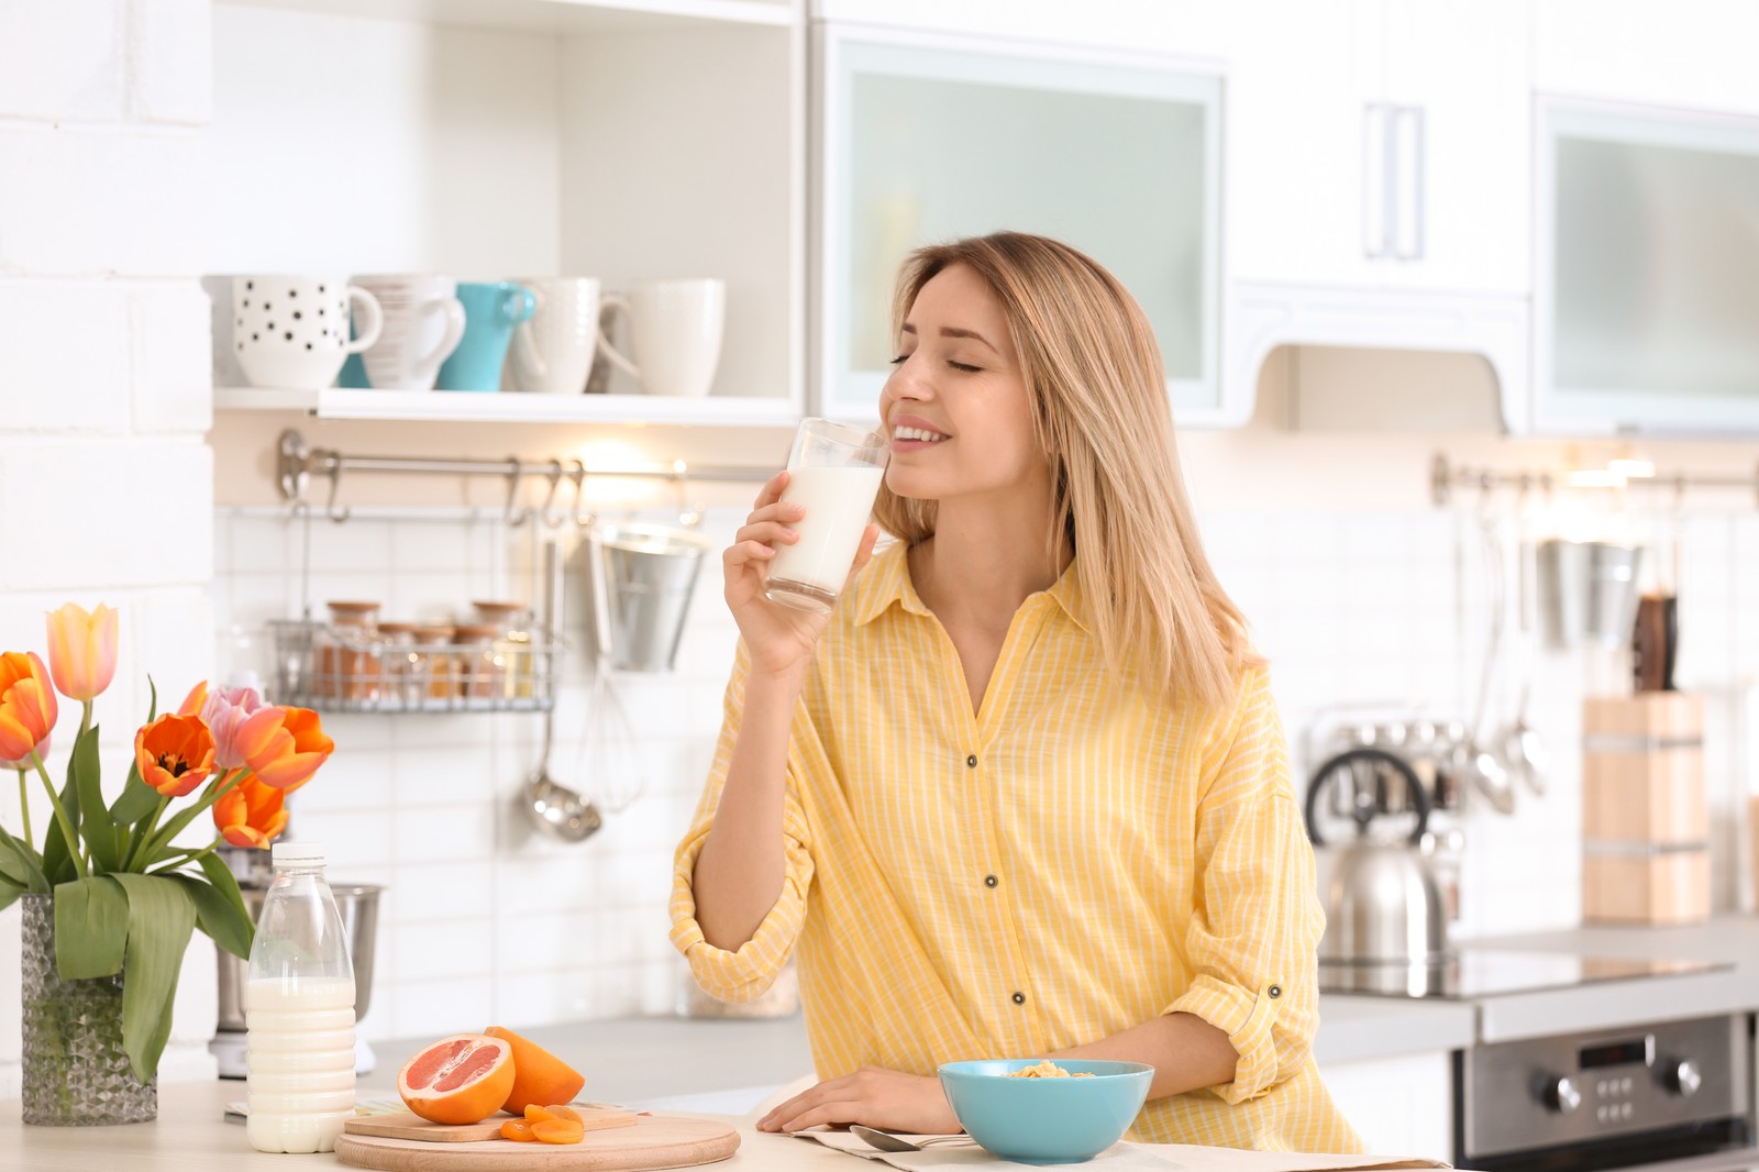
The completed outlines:
<svg viewBox="0 0 1759 1172">
<path fill-rule="evenodd" d="M 405 419 L 533 424 L 793 426 L 785 398 L 661 394 L 503 394 L 496 391 L 294 391 L 215 387 L 215 410 L 306 412 L 318 419 Z"/>
</svg>

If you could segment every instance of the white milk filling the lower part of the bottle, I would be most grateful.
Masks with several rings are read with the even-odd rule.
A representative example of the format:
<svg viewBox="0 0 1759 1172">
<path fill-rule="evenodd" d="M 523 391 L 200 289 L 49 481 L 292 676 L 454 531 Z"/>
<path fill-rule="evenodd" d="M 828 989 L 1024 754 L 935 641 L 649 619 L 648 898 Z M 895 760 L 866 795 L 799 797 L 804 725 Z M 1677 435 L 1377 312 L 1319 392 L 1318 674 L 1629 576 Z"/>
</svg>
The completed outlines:
<svg viewBox="0 0 1759 1172">
<path fill-rule="evenodd" d="M 250 980 L 245 1028 L 250 1146 L 334 1151 L 354 1116 L 354 980 Z"/>
</svg>

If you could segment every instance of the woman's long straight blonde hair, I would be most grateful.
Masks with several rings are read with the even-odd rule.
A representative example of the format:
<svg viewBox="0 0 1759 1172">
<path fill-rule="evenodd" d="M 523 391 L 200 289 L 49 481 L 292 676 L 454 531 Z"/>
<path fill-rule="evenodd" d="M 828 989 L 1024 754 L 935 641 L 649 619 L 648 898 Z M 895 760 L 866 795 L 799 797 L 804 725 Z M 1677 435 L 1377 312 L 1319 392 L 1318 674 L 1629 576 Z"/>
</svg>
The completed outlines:
<svg viewBox="0 0 1759 1172">
<path fill-rule="evenodd" d="M 1001 301 L 1050 465 L 1055 528 L 1106 662 L 1173 702 L 1228 704 L 1251 653 L 1245 619 L 1203 556 L 1173 445 L 1154 329 L 1115 276 L 1043 236 L 996 232 L 918 248 L 897 278 L 892 333 L 955 264 Z M 874 517 L 906 544 L 936 503 L 880 489 Z"/>
</svg>

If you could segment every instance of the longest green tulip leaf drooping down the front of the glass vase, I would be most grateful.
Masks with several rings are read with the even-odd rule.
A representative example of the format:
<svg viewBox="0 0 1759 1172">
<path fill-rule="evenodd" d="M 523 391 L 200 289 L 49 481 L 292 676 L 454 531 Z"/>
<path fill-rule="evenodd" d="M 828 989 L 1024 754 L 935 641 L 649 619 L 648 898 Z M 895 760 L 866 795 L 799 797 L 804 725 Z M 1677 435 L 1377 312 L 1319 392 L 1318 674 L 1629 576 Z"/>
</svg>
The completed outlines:
<svg viewBox="0 0 1759 1172">
<path fill-rule="evenodd" d="M 178 993 L 183 950 L 195 931 L 195 903 L 176 880 L 157 875 L 114 875 L 128 892 L 128 957 L 121 982 L 121 1045 L 141 1082 L 158 1072 L 171 1036 L 171 1003 Z"/>
</svg>

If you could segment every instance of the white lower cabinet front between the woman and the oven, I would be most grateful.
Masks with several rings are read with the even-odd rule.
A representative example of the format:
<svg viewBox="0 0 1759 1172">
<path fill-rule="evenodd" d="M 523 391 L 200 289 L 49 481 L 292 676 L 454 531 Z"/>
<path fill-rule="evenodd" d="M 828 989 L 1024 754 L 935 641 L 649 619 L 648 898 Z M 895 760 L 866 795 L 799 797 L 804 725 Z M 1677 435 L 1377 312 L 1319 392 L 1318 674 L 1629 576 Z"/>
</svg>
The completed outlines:
<svg viewBox="0 0 1759 1172">
<path fill-rule="evenodd" d="M 1400 1054 L 1319 1068 L 1370 1153 L 1453 1160 L 1453 1056 Z"/>
</svg>

